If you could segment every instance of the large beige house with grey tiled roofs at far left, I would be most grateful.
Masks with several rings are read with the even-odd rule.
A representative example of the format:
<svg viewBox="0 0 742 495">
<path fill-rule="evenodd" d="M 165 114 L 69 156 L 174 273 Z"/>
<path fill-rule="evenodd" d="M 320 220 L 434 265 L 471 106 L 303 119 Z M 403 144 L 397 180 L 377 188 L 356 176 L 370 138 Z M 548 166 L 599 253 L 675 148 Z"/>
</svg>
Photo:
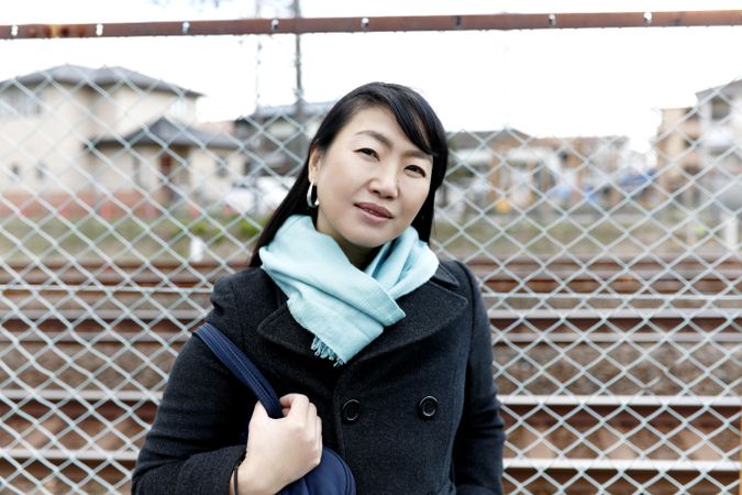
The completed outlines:
<svg viewBox="0 0 742 495">
<path fill-rule="evenodd" d="M 123 67 L 64 65 L 0 81 L 0 209 L 155 213 L 219 198 L 240 145 L 198 129 L 200 96 Z"/>
</svg>

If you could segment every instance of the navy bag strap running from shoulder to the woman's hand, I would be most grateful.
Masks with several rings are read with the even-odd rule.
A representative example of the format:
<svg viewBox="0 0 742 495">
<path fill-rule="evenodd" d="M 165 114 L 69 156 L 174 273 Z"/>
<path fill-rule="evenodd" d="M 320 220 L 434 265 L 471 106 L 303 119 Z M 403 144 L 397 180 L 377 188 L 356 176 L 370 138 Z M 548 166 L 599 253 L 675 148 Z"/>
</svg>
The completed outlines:
<svg viewBox="0 0 742 495">
<path fill-rule="evenodd" d="M 203 323 L 193 333 L 201 338 L 240 382 L 253 391 L 269 417 L 274 419 L 284 417 L 284 408 L 278 402 L 276 391 L 240 348 L 211 323 Z"/>
</svg>

